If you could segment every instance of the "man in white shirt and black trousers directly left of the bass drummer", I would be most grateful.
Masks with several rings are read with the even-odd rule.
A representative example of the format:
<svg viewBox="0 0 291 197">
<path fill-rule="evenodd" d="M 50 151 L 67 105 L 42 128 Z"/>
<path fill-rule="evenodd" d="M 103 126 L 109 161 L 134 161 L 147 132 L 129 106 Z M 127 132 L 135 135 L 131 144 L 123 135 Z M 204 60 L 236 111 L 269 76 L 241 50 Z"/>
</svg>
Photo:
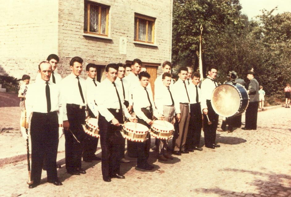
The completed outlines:
<svg viewBox="0 0 291 197">
<path fill-rule="evenodd" d="M 190 152 L 194 152 L 194 150 L 203 150 L 202 148 L 199 148 L 202 129 L 202 112 L 200 105 L 201 90 L 198 87 L 200 82 L 200 73 L 193 73 L 191 79 L 192 81 L 189 85 L 190 121 L 185 149 Z"/>
</svg>

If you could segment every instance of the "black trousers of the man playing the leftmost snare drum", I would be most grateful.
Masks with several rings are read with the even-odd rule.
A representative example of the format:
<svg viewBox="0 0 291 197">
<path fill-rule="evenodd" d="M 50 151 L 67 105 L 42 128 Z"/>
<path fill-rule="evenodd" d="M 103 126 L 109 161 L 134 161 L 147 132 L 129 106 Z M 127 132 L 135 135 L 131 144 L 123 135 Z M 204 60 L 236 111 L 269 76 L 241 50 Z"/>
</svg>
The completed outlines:
<svg viewBox="0 0 291 197">
<path fill-rule="evenodd" d="M 87 135 L 82 127 L 82 124 L 85 124 L 85 109 L 80 109 L 78 105 L 67 104 L 67 116 L 70 124 L 69 129 L 80 143 L 77 142 L 70 131 L 64 131 L 66 169 L 76 171 L 81 168 L 83 143 Z"/>
</svg>

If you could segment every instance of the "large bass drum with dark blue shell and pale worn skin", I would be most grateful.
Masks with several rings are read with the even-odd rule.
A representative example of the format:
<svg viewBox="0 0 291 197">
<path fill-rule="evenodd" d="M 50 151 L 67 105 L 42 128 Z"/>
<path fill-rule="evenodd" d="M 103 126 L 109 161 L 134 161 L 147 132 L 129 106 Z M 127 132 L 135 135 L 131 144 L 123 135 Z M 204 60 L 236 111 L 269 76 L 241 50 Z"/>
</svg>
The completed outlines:
<svg viewBox="0 0 291 197">
<path fill-rule="evenodd" d="M 217 86 L 211 95 L 212 108 L 222 117 L 242 114 L 247 109 L 248 102 L 247 90 L 235 82 Z"/>
</svg>

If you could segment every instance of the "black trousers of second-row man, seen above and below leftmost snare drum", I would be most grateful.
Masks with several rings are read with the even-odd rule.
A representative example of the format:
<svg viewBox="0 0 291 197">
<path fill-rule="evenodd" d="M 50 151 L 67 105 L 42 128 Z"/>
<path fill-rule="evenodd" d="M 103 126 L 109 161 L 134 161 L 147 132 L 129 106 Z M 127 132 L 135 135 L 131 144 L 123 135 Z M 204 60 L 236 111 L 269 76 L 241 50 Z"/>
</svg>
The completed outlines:
<svg viewBox="0 0 291 197">
<path fill-rule="evenodd" d="M 87 109 L 88 109 L 88 115 L 91 118 L 96 118 L 88 106 L 87 106 Z M 97 137 L 86 135 L 86 137 L 84 139 L 83 160 L 95 157 L 95 152 L 97 150 L 98 140 L 99 139 Z"/>
</svg>

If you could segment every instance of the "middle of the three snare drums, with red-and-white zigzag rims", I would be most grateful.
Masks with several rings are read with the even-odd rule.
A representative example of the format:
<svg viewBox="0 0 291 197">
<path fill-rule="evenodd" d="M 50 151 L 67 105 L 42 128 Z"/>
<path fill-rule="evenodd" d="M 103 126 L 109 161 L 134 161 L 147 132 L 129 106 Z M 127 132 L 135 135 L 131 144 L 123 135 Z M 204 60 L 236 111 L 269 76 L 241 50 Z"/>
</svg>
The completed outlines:
<svg viewBox="0 0 291 197">
<path fill-rule="evenodd" d="M 123 125 L 121 135 L 133 142 L 144 142 L 148 139 L 148 128 L 140 123 L 126 122 Z"/>
</svg>

